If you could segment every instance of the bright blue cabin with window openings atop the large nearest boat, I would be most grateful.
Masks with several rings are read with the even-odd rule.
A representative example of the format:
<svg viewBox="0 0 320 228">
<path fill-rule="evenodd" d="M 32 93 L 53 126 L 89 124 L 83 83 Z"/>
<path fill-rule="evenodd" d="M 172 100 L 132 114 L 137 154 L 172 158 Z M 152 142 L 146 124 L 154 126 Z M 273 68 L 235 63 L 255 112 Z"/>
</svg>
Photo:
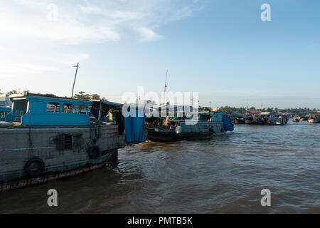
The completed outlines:
<svg viewBox="0 0 320 228">
<path fill-rule="evenodd" d="M 121 105 L 33 93 L 11 95 L 9 98 L 13 104 L 5 120 L 16 125 L 90 125 L 90 116 L 100 120 L 107 110 Z"/>
</svg>

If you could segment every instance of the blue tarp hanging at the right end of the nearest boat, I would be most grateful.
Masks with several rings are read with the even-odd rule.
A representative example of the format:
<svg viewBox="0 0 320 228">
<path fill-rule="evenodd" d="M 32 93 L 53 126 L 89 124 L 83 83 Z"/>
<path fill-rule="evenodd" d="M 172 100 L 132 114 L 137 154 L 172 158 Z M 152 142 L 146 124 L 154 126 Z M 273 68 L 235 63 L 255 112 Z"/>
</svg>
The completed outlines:
<svg viewBox="0 0 320 228">
<path fill-rule="evenodd" d="M 142 114 L 141 110 L 136 110 L 136 116 L 124 118 L 124 129 L 126 132 L 127 142 L 144 142 L 146 136 L 144 133 L 144 122 L 146 115 L 143 113 L 143 117 L 139 117 L 138 113 Z"/>
</svg>

